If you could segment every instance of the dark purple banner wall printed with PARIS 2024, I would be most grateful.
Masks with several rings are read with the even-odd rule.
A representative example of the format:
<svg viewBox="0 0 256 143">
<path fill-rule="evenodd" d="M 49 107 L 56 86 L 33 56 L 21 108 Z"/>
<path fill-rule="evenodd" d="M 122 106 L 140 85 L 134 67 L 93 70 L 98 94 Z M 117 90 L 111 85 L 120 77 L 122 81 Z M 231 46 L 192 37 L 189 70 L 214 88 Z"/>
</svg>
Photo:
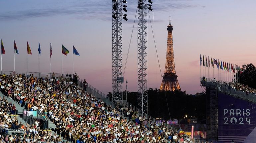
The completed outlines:
<svg viewBox="0 0 256 143">
<path fill-rule="evenodd" d="M 218 140 L 256 143 L 256 104 L 219 92 Z"/>
</svg>

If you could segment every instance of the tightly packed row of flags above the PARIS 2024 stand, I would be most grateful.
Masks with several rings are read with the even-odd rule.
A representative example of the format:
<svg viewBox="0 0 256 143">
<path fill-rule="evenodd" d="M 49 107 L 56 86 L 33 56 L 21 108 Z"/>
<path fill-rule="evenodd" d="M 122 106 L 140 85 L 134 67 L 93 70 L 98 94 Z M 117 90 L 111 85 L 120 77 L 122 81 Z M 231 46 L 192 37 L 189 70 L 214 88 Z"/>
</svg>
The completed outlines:
<svg viewBox="0 0 256 143">
<path fill-rule="evenodd" d="M 234 65 L 234 64 L 232 65 L 232 63 L 231 63 L 231 66 L 230 66 L 230 63 L 224 62 L 224 61 L 221 61 L 221 60 L 219 61 L 219 59 L 218 59 L 218 61 L 217 61 L 217 59 L 214 59 L 214 58 L 212 60 L 212 57 L 211 57 L 211 61 L 210 61 L 210 58 L 208 56 L 208 61 L 207 61 L 207 56 L 206 55 L 205 55 L 205 62 L 204 62 L 204 55 L 203 55 L 203 60 L 202 60 L 202 57 L 201 57 L 201 54 L 200 54 L 200 66 L 202 64 L 203 64 L 203 66 L 206 66 L 206 67 L 209 66 L 209 68 L 210 67 L 214 68 L 214 65 L 216 65 L 218 69 L 220 68 L 220 69 L 225 70 L 227 72 L 231 72 L 231 70 L 234 73 L 235 73 L 235 70 L 240 71 L 240 73 L 243 72 L 242 68 L 239 67 L 238 65 Z"/>
</svg>

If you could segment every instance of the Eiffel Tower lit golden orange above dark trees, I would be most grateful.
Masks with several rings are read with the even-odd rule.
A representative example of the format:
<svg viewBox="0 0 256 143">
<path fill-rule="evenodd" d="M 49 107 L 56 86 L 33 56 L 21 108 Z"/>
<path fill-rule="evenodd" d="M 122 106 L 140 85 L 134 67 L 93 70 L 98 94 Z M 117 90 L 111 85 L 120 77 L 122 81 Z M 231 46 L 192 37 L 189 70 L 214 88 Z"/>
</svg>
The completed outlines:
<svg viewBox="0 0 256 143">
<path fill-rule="evenodd" d="M 175 64 L 174 64 L 174 54 L 173 54 L 173 26 L 171 25 L 171 16 L 170 23 L 167 26 L 168 38 L 167 38 L 167 52 L 166 52 L 166 63 L 165 63 L 165 73 L 163 76 L 163 81 L 160 86 L 160 90 L 181 90 L 179 85 Z"/>
</svg>

